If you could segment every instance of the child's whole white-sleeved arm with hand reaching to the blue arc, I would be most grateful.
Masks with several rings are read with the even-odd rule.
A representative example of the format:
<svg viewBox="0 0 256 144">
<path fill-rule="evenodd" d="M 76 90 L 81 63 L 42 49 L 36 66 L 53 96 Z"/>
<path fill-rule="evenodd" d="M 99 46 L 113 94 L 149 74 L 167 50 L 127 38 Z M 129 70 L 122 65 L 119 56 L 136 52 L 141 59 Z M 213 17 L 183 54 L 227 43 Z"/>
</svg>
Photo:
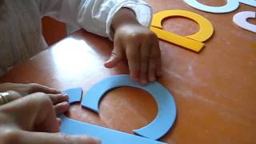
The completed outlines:
<svg viewBox="0 0 256 144">
<path fill-rule="evenodd" d="M 70 25 L 81 26 L 91 33 L 114 39 L 114 54 L 118 55 L 112 56 L 106 62 L 106 67 L 116 66 L 119 59 L 127 58 L 134 81 L 153 82 L 160 75 L 158 38 L 147 28 L 152 19 L 152 10 L 142 0 L 36 2 L 42 16 L 48 15 Z"/>
</svg>

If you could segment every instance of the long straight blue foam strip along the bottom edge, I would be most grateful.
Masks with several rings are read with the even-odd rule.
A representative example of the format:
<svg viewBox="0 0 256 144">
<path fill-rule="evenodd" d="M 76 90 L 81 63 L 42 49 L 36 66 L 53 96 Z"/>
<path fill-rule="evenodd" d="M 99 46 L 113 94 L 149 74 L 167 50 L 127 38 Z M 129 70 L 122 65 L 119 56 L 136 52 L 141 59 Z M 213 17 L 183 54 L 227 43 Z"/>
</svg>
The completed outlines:
<svg viewBox="0 0 256 144">
<path fill-rule="evenodd" d="M 88 134 L 90 137 L 100 139 L 102 144 L 164 144 L 164 142 L 154 141 L 134 134 L 127 134 L 118 130 L 111 130 L 102 126 L 79 122 L 67 118 L 64 114 L 62 114 L 60 118 L 62 118 L 62 125 L 60 127 L 62 133 L 71 135 Z"/>
</svg>

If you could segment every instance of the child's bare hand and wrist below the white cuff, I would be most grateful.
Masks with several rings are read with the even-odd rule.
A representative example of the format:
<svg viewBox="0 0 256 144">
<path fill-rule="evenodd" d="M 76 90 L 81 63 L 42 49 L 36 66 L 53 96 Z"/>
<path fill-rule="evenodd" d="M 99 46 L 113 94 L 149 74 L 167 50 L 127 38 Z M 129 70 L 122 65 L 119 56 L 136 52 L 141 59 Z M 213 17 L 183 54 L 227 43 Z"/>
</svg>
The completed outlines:
<svg viewBox="0 0 256 144">
<path fill-rule="evenodd" d="M 133 81 L 154 82 L 162 73 L 156 34 L 141 26 L 130 10 L 120 11 L 114 20 L 114 50 L 105 66 L 112 68 L 127 58 Z"/>
</svg>

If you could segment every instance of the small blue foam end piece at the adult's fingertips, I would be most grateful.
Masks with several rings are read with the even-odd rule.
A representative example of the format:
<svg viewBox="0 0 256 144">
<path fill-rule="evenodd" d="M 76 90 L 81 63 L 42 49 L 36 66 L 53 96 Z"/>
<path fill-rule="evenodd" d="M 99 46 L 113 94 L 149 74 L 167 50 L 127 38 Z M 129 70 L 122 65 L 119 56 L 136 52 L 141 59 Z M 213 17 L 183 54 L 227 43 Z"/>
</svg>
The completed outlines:
<svg viewBox="0 0 256 144">
<path fill-rule="evenodd" d="M 77 87 L 77 88 L 73 88 L 73 89 L 69 89 L 69 90 L 63 90 L 62 93 L 67 94 L 69 97 L 68 102 L 74 103 L 74 102 L 81 102 L 81 98 L 82 98 L 82 88 L 81 87 Z"/>
</svg>

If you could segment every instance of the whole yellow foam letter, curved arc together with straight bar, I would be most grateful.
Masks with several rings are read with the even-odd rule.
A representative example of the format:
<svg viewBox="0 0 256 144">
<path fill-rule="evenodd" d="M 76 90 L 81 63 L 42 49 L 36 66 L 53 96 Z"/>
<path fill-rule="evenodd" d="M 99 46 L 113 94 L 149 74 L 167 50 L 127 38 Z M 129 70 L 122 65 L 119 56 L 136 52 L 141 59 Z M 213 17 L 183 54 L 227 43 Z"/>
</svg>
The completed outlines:
<svg viewBox="0 0 256 144">
<path fill-rule="evenodd" d="M 189 18 L 194 22 L 197 22 L 200 29 L 196 34 L 186 37 L 178 34 L 170 33 L 166 30 L 162 30 L 162 20 L 169 17 L 183 17 Z M 206 18 L 199 14 L 187 10 L 165 10 L 157 14 L 154 14 L 150 30 L 154 31 L 158 35 L 158 38 L 167 42 L 172 42 L 178 46 L 183 46 L 189 50 L 199 52 L 205 45 L 204 41 L 209 39 L 214 34 L 214 26 Z"/>
</svg>

